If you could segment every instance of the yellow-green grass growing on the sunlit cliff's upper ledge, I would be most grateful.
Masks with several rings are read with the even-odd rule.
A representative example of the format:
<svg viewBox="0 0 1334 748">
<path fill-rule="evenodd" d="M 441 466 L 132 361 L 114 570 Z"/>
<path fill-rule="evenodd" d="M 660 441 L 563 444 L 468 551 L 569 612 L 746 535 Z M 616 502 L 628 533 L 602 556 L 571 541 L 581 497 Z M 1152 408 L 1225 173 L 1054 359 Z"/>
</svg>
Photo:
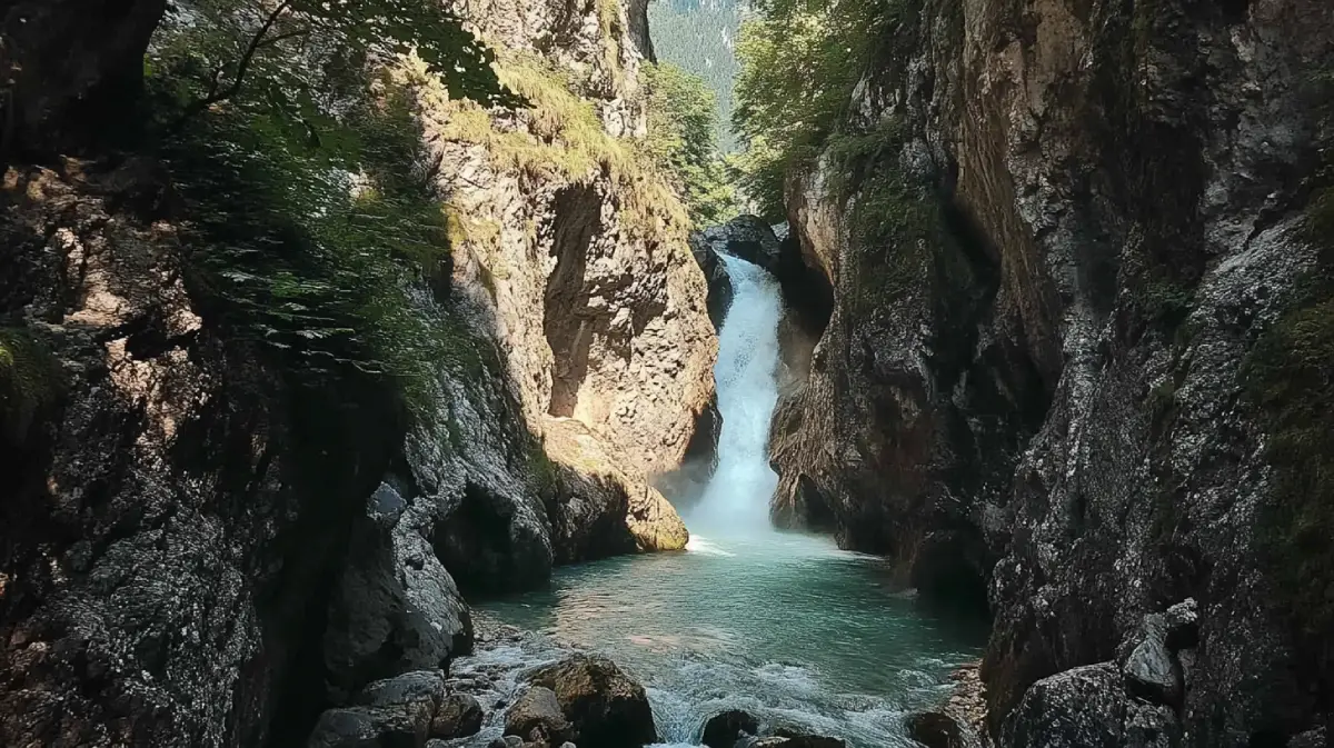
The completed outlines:
<svg viewBox="0 0 1334 748">
<path fill-rule="evenodd" d="M 606 176 L 619 187 L 620 219 L 634 236 L 684 240 L 690 216 L 666 176 L 639 143 L 603 129 L 592 104 L 574 92 L 567 75 L 527 52 L 502 52 L 496 71 L 528 108 L 488 111 L 470 100 L 451 100 L 420 68 L 410 69 L 408 80 L 424 87 L 427 108 L 444 113 L 444 139 L 482 145 L 499 168 L 539 179 L 587 184 Z"/>
</svg>

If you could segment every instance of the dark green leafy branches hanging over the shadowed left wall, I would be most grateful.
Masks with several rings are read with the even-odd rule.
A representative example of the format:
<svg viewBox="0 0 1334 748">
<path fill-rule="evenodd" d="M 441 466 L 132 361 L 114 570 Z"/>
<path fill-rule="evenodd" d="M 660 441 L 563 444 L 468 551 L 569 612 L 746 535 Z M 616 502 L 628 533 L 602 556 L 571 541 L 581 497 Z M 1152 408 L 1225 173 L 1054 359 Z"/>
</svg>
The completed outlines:
<svg viewBox="0 0 1334 748">
<path fill-rule="evenodd" d="M 482 353 L 420 291 L 447 289 L 456 227 L 414 92 L 383 72 L 408 53 L 454 96 L 518 101 L 434 0 L 197 0 L 145 65 L 209 319 L 300 384 L 356 373 L 422 405 L 440 363 Z"/>
</svg>

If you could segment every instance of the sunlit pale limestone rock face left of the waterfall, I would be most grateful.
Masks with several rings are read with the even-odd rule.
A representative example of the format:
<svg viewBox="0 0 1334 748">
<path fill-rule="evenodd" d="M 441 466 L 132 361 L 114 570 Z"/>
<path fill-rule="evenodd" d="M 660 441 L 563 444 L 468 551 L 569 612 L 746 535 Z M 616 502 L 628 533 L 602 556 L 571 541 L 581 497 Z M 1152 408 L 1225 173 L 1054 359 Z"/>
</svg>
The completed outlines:
<svg viewBox="0 0 1334 748">
<path fill-rule="evenodd" d="M 494 316 L 528 428 L 542 435 L 547 417 L 574 419 L 627 457 L 619 469 L 674 469 L 712 399 L 718 344 L 679 200 L 651 179 L 610 173 L 635 168 L 619 161 L 644 133 L 644 52 L 632 33 L 642 7 L 510 0 L 460 11 L 514 68 L 503 79 L 576 95 L 596 117 L 580 127 L 602 128 L 580 131 L 591 161 L 516 164 L 523 156 L 503 143 L 550 139 L 543 128 L 562 124 L 524 112 L 479 123 L 498 145 L 459 128 L 447 99 L 423 93 L 438 184 L 463 227 L 458 276 Z M 560 75 L 532 71 L 532 48 Z"/>
</svg>

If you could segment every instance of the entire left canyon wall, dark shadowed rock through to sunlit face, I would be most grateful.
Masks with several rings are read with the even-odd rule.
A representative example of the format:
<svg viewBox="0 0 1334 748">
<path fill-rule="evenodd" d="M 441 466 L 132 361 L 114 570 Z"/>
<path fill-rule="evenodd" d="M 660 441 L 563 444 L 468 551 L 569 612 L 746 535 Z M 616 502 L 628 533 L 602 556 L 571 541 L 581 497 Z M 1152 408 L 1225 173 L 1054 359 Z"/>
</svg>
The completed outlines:
<svg viewBox="0 0 1334 748">
<path fill-rule="evenodd" d="M 161 4 L 123 5 L 147 43 Z M 36 60 L 81 11 L 4 12 L 7 29 L 55 29 L 19 49 Z M 249 255 L 217 272 L 244 232 L 296 257 L 280 283 L 304 280 L 292 273 L 319 261 L 305 255 L 319 240 L 284 204 L 263 205 L 259 228 L 209 223 L 201 196 L 265 195 L 183 176 L 216 153 L 107 152 L 79 133 L 71 101 L 121 101 L 140 84 L 121 63 L 141 75 L 143 44 L 89 43 L 65 60 L 81 76 L 67 97 L 12 100 L 0 743 L 300 744 L 367 683 L 468 652 L 460 588 L 686 544 L 647 477 L 680 463 L 716 341 L 684 212 L 636 149 L 644 8 L 458 12 L 528 108 L 483 111 L 412 61 L 395 68 L 418 95 L 450 259 L 442 276 L 394 275 L 398 305 L 371 319 L 432 339 L 419 349 L 439 360 L 414 367 L 427 376 L 366 365 L 351 327 L 366 317 L 335 319 L 342 307 L 316 309 L 335 327 L 291 336 L 269 325 L 308 309 L 279 308 L 276 287 L 229 293 L 268 268 Z M 5 60 L 23 91 L 49 83 Z M 297 291 L 324 293 L 316 280 Z"/>
</svg>

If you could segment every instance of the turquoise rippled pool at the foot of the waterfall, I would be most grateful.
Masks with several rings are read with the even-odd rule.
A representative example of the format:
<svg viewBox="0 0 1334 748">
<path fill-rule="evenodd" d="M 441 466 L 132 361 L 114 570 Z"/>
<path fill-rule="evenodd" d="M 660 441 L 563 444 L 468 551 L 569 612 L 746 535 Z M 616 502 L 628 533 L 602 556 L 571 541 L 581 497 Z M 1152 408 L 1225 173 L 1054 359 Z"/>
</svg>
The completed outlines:
<svg viewBox="0 0 1334 748">
<path fill-rule="evenodd" d="M 480 608 L 611 656 L 648 688 L 662 737 L 683 744 L 740 708 L 860 748 L 910 745 L 902 713 L 939 699 L 983 643 L 898 592 L 879 560 L 826 539 L 694 545 L 567 567 L 547 591 Z"/>
</svg>

